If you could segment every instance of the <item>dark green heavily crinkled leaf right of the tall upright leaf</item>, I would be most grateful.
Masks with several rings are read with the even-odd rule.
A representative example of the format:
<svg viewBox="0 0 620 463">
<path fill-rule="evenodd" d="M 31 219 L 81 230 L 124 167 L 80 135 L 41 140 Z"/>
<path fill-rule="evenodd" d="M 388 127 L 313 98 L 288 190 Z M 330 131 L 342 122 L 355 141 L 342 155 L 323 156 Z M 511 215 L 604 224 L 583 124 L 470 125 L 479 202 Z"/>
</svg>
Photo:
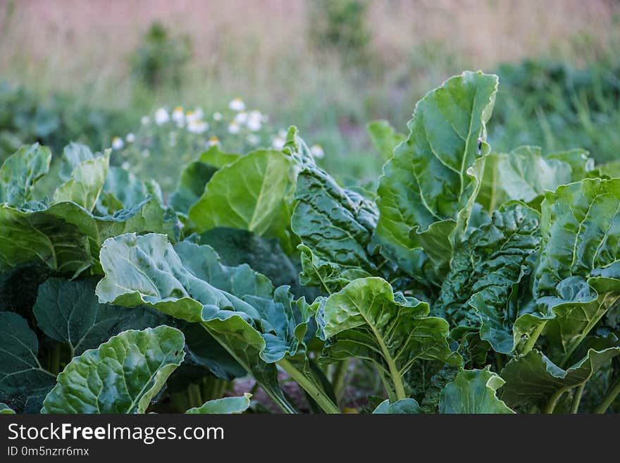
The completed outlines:
<svg viewBox="0 0 620 463">
<path fill-rule="evenodd" d="M 519 285 L 527 288 L 530 257 L 540 245 L 540 216 L 521 202 L 504 204 L 454 251 L 433 314 L 453 326 L 480 326 L 482 340 L 509 354 L 544 321 L 523 314 Z"/>
</svg>

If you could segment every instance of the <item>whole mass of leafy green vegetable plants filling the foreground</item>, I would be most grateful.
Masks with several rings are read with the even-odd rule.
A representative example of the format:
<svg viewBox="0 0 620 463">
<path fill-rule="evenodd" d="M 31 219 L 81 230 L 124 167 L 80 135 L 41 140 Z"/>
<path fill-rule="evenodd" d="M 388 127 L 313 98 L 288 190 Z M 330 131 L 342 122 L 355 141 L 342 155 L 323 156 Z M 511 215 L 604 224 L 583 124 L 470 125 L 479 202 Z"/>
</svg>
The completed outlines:
<svg viewBox="0 0 620 463">
<path fill-rule="evenodd" d="M 77 144 L 39 187 L 51 154 L 20 148 L 0 168 L 3 410 L 337 413 L 357 386 L 376 414 L 616 412 L 617 166 L 493 152 L 497 89 L 464 72 L 407 135 L 371 125 L 392 152 L 376 192 L 294 127 L 279 149 L 210 147 L 167 206 Z"/>
</svg>

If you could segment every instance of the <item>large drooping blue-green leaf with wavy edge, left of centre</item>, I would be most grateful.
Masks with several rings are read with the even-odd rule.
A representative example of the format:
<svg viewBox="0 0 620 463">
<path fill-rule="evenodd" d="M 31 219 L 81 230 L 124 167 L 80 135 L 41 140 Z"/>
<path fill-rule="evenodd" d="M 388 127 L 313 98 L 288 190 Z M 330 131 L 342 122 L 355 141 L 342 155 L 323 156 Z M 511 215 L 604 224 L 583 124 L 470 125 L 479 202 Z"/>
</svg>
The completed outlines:
<svg viewBox="0 0 620 463">
<path fill-rule="evenodd" d="M 101 248 L 101 265 L 106 276 L 97 285 L 99 300 L 148 304 L 201 323 L 276 403 L 290 407 L 273 363 L 302 347 L 311 315 L 304 300 L 293 301 L 286 287 L 271 295 L 271 283 L 247 265 L 222 266 L 209 246 L 182 242 L 175 250 L 165 235 L 112 238 Z"/>
</svg>

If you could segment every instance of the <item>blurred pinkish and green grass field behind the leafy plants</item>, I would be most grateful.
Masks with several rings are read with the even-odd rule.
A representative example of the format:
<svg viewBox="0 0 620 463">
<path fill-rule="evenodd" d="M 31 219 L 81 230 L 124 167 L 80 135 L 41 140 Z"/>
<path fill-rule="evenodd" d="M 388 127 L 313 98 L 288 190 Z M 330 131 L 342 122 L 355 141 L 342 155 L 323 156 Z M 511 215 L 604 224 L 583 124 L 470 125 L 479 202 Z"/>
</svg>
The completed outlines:
<svg viewBox="0 0 620 463">
<path fill-rule="evenodd" d="M 163 65 L 144 58 L 155 22 L 168 34 Z M 239 96 L 275 125 L 297 125 L 323 146 L 326 168 L 360 183 L 383 163 L 368 121 L 404 131 L 428 90 L 482 69 L 500 73 L 496 149 L 620 153 L 618 1 L 0 0 L 0 37 L 0 78 L 41 101 L 59 93 L 109 111 L 93 129 L 106 146 L 159 106 L 212 112 Z"/>
</svg>

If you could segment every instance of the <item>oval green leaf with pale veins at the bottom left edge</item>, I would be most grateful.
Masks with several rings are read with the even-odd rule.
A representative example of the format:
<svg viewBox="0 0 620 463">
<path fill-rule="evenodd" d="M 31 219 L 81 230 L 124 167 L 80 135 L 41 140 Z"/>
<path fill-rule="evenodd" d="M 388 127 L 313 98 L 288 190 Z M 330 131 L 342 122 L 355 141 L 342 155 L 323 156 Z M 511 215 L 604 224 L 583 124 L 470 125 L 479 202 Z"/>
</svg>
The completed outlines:
<svg viewBox="0 0 620 463">
<path fill-rule="evenodd" d="M 123 331 L 75 357 L 41 413 L 144 413 L 183 361 L 184 345 L 183 333 L 166 325 Z"/>
</svg>

